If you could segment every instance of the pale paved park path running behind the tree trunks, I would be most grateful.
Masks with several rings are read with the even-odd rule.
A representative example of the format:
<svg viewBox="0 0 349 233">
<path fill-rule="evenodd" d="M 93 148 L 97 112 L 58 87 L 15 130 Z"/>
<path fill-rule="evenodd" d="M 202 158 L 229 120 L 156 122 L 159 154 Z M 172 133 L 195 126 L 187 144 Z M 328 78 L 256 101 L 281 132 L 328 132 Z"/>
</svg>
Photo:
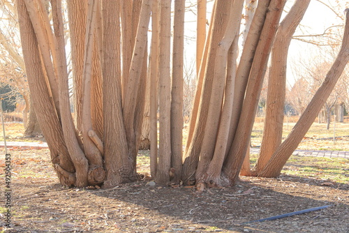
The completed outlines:
<svg viewBox="0 0 349 233">
<path fill-rule="evenodd" d="M 6 142 L 6 146 L 12 149 L 46 149 L 46 142 Z M 0 142 L 0 148 L 3 148 L 3 142 Z M 253 147 L 250 153 L 259 153 L 260 148 Z M 295 156 L 317 156 L 327 158 L 349 158 L 349 151 L 322 151 L 322 150 L 295 150 L 292 155 Z"/>
</svg>

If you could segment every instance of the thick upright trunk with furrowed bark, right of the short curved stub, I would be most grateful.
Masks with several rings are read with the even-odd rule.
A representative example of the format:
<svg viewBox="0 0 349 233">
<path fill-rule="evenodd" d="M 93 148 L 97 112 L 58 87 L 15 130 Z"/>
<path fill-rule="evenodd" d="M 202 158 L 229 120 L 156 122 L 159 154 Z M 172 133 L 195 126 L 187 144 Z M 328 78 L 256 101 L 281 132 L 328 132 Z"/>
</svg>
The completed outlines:
<svg viewBox="0 0 349 233">
<path fill-rule="evenodd" d="M 103 114 L 104 159 L 107 176 L 105 187 L 129 181 L 131 161 L 122 115 L 121 103 L 121 49 L 119 3 L 104 0 L 103 8 Z"/>
</svg>

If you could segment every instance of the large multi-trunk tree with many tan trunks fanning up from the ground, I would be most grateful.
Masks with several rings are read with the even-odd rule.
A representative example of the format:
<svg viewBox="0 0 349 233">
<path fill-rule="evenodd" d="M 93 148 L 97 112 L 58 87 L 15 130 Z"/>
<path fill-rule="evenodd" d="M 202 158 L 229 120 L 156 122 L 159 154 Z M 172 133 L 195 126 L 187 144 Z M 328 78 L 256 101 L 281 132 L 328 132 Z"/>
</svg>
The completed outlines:
<svg viewBox="0 0 349 233">
<path fill-rule="evenodd" d="M 280 24 L 285 2 L 258 1 L 240 50 L 244 0 L 216 0 L 207 33 L 200 13 L 198 80 L 183 147 L 184 0 L 174 4 L 170 0 L 67 1 L 74 118 L 61 1 L 50 1 L 50 14 L 42 1 L 18 1 L 29 88 L 60 182 L 107 187 L 138 179 L 138 146 L 149 98 L 152 178 L 163 185 L 196 183 L 200 190 L 225 184 L 223 181 L 235 184 L 248 151 L 273 46 L 269 84 L 285 95 L 287 48 L 309 1 L 296 1 Z M 199 3 L 204 6 L 205 1 Z M 349 59 L 346 34 L 339 57 L 305 117 L 283 144 L 276 135 L 276 146 L 263 156 L 267 163 L 251 172 L 253 175 L 280 174 Z M 278 55 L 279 50 L 284 53 Z M 267 102 L 274 103 L 275 96 L 279 93 L 269 94 Z M 278 100 L 281 105 L 283 98 Z M 280 118 L 276 122 L 279 128 Z"/>
</svg>

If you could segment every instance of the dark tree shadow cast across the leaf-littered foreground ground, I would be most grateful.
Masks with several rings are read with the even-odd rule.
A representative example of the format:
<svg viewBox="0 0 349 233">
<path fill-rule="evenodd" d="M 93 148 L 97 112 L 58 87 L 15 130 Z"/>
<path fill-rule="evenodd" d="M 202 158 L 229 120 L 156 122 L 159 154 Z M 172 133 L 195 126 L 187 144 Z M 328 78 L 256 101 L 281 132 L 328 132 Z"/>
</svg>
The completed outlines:
<svg viewBox="0 0 349 233">
<path fill-rule="evenodd" d="M 269 180 L 268 183 L 278 186 L 281 185 L 281 182 L 274 179 L 272 182 Z M 299 186 L 304 185 L 309 185 L 309 183 L 299 183 Z M 311 184 L 309 186 L 311 188 L 308 188 L 308 190 L 316 190 L 318 188 Z M 331 188 L 326 187 L 325 189 Z M 91 193 L 94 192 L 91 191 Z M 273 232 L 273 229 L 276 230 L 275 232 L 288 232 L 290 229 L 292 229 L 290 232 L 298 232 L 298 230 L 313 231 L 318 228 L 315 227 L 317 225 L 333 227 L 341 221 L 341 218 L 338 218 L 338 215 L 335 213 L 338 211 L 348 213 L 349 211 L 348 204 L 338 204 L 326 199 L 320 198 L 318 200 L 318 198 L 292 193 L 287 184 L 282 191 L 276 191 L 273 188 L 261 186 L 250 181 L 241 181 L 233 188 L 207 189 L 202 193 L 196 192 L 193 188 L 163 188 L 140 185 L 139 187 L 133 186 L 125 190 L 105 190 L 101 193 L 96 193 L 96 195 L 136 204 L 148 211 L 156 211 L 161 216 L 174 218 L 174 220 L 177 220 L 177 225 L 172 225 L 172 228 L 170 225 L 166 227 L 174 229 L 174 232 L 176 232 L 176 229 L 178 231 L 185 230 L 183 225 L 186 224 L 183 223 L 206 225 L 205 230 L 211 229 L 212 232 L 217 229 L 239 232 L 244 231 L 246 227 L 250 227 L 250 230 L 253 230 L 253 232 L 262 232 L 264 230 Z M 308 213 L 304 216 L 242 225 L 242 223 L 251 220 L 328 204 L 332 205 L 332 207 Z M 322 215 L 325 217 L 322 217 Z M 334 218 L 330 217 L 329 223 L 324 225 L 323 219 L 328 219 L 329 216 Z M 245 230 L 245 232 L 247 231 Z M 313 232 L 316 232 L 316 230 Z"/>
</svg>

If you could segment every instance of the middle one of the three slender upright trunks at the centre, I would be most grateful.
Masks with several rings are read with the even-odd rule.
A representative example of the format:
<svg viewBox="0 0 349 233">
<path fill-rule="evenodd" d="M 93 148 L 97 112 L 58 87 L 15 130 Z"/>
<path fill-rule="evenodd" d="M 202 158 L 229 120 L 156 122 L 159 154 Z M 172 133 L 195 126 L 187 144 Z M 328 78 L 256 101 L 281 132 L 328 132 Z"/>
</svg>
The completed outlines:
<svg viewBox="0 0 349 233">
<path fill-rule="evenodd" d="M 171 168 L 171 79 L 170 79 L 170 39 L 171 39 L 171 0 L 161 0 L 160 36 L 158 59 L 159 95 L 159 150 L 155 181 L 168 184 Z"/>
</svg>

